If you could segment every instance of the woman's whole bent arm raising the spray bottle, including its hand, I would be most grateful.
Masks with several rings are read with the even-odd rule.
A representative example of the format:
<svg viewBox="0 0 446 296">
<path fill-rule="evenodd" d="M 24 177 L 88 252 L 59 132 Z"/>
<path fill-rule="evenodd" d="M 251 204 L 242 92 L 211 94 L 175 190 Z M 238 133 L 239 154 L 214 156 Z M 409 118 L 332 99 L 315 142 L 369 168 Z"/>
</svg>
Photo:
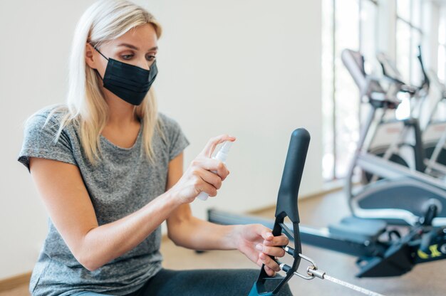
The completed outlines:
<svg viewBox="0 0 446 296">
<path fill-rule="evenodd" d="M 209 140 L 172 189 L 135 213 L 101 226 L 98 226 L 93 204 L 77 166 L 37 157 L 30 157 L 29 166 L 51 221 L 71 253 L 85 268 L 95 270 L 135 248 L 172 211 L 194 201 L 200 192 L 215 196 L 221 180 L 227 176 L 227 170 L 221 162 L 205 155 L 212 154 L 217 144 L 228 140 L 234 139 L 222 135 Z M 209 170 L 217 171 L 218 176 Z"/>
</svg>

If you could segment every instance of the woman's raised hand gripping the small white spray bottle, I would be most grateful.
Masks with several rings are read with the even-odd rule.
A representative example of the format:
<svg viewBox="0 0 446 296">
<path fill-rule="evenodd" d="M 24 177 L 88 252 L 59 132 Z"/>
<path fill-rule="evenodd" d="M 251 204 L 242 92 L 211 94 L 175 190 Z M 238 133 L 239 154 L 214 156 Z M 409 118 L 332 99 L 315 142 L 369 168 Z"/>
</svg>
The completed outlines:
<svg viewBox="0 0 446 296">
<path fill-rule="evenodd" d="M 220 189 L 229 171 L 223 162 L 210 157 L 215 147 L 226 141 L 234 142 L 235 138 L 222 134 L 209 139 L 202 152 L 192 160 L 181 179 L 169 190 L 181 200 L 181 203 L 191 203 L 202 191 L 209 196 L 217 195 L 217 189 Z M 212 171 L 216 171 L 216 174 Z"/>
</svg>

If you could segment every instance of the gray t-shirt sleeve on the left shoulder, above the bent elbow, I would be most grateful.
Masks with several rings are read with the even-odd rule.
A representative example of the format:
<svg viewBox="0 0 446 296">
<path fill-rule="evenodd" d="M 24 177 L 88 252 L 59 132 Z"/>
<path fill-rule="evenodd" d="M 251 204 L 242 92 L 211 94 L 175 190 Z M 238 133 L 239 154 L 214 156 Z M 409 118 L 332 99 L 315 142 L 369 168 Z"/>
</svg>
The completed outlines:
<svg viewBox="0 0 446 296">
<path fill-rule="evenodd" d="M 28 171 L 30 157 L 53 159 L 77 165 L 71 141 L 66 131 L 63 130 L 57 142 L 55 142 L 59 125 L 53 118 L 43 126 L 45 122 L 46 117 L 43 115 L 33 115 L 26 122 L 24 142 L 17 160 L 24 164 Z"/>
</svg>

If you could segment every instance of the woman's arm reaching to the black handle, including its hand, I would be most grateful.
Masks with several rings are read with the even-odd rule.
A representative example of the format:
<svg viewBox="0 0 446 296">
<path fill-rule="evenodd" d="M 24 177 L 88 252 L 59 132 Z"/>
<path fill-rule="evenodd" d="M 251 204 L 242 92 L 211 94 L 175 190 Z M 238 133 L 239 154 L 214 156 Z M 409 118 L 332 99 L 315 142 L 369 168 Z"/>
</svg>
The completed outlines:
<svg viewBox="0 0 446 296">
<path fill-rule="evenodd" d="M 169 164 L 167 189 L 177 184 L 182 176 L 183 155 Z M 221 186 L 221 184 L 219 184 Z M 216 187 L 216 189 L 219 189 Z M 237 249 L 257 265 L 265 265 L 266 273 L 273 276 L 279 265 L 269 255 L 283 257 L 285 251 L 278 247 L 288 245 L 286 236 L 272 236 L 271 229 L 259 224 L 222 226 L 192 216 L 189 204 L 178 206 L 167 218 L 169 238 L 192 250 Z"/>
</svg>

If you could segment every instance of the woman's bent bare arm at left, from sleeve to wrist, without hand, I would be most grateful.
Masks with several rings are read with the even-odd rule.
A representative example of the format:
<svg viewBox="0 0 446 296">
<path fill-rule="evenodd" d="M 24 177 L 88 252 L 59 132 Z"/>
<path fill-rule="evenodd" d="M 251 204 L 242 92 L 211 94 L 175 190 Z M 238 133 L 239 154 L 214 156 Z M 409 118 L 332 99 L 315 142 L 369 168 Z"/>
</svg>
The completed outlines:
<svg viewBox="0 0 446 296">
<path fill-rule="evenodd" d="M 98 226 L 77 166 L 31 157 L 30 169 L 54 226 L 76 260 L 88 270 L 135 248 L 181 204 L 166 192 L 135 213 Z"/>
</svg>

